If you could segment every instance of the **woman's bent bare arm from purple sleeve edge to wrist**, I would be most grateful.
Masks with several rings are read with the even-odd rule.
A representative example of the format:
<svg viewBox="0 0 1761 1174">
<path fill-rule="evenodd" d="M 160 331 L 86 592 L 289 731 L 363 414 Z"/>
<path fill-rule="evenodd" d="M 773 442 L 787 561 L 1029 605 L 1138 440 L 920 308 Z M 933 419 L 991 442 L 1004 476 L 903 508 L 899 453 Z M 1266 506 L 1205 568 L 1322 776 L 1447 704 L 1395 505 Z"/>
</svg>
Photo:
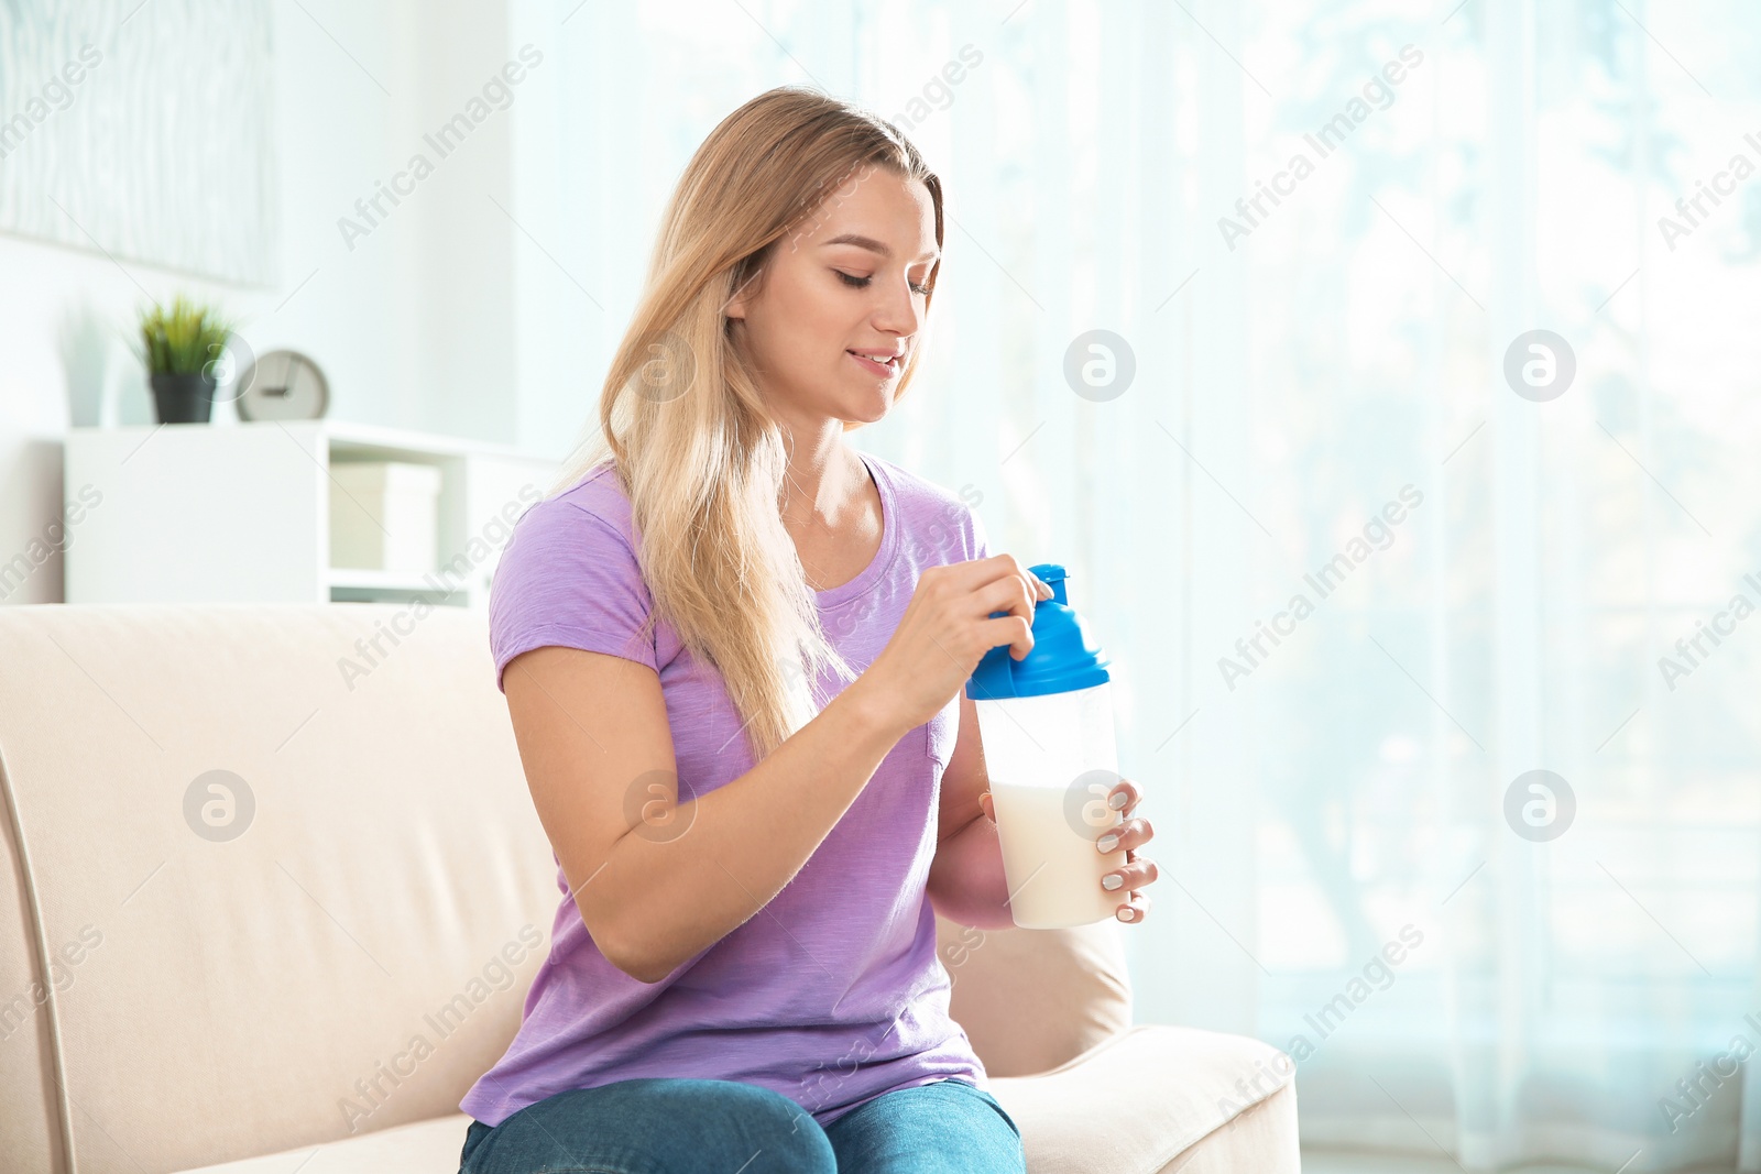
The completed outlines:
<svg viewBox="0 0 1761 1174">
<path fill-rule="evenodd" d="M 858 679 L 761 764 L 678 803 L 653 669 L 544 646 L 514 657 L 504 686 L 576 908 L 601 952 L 641 982 L 770 903 L 910 729 Z"/>
</svg>

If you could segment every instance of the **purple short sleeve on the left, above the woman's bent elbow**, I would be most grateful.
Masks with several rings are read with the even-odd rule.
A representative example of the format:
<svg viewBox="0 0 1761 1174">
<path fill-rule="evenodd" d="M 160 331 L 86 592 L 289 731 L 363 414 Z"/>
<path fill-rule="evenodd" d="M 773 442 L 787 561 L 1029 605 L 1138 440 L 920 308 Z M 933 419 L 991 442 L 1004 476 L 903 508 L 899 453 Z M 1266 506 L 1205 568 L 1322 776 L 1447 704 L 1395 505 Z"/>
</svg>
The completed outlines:
<svg viewBox="0 0 1761 1174">
<path fill-rule="evenodd" d="M 574 502 L 546 498 L 514 525 L 490 584 L 495 686 L 507 662 L 534 648 L 579 648 L 659 672 L 653 600 L 630 540 Z"/>
</svg>

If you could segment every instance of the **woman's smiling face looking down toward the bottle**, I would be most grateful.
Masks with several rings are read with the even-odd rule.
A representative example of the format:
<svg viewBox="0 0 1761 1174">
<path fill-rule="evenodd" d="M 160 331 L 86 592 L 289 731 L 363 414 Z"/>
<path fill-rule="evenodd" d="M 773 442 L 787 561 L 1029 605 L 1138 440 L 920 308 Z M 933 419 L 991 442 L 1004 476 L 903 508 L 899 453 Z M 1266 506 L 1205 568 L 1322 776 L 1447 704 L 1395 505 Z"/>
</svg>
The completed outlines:
<svg viewBox="0 0 1761 1174">
<path fill-rule="evenodd" d="M 771 252 L 727 317 L 773 407 L 870 424 L 893 407 L 939 259 L 930 190 L 865 164 Z M 889 357 L 884 366 L 858 354 Z"/>
</svg>

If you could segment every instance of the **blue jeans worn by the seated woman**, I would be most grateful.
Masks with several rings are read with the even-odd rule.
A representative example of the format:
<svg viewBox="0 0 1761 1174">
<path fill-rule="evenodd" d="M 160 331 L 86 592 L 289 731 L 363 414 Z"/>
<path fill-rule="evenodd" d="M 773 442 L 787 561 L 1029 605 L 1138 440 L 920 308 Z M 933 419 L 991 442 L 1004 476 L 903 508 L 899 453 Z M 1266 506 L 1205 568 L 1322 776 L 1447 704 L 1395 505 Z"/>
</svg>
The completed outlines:
<svg viewBox="0 0 1761 1174">
<path fill-rule="evenodd" d="M 460 1174 L 1025 1174 L 1021 1130 L 990 1093 L 900 1088 L 829 1126 L 757 1084 L 645 1077 L 472 1121 Z"/>
</svg>

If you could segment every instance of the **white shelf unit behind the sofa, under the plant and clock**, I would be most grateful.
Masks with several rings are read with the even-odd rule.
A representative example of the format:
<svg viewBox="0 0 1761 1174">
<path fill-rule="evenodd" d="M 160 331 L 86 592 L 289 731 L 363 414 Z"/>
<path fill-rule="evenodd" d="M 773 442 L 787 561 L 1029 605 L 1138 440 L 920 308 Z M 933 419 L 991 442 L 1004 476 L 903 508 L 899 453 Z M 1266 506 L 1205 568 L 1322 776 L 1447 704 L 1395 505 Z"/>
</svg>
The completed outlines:
<svg viewBox="0 0 1761 1174">
<path fill-rule="evenodd" d="M 438 466 L 431 574 L 329 565 L 329 466 L 343 461 Z M 69 526 L 69 604 L 483 607 L 512 521 L 556 461 L 372 424 L 257 421 L 74 428 L 63 468 L 65 503 L 85 512 Z"/>
</svg>

